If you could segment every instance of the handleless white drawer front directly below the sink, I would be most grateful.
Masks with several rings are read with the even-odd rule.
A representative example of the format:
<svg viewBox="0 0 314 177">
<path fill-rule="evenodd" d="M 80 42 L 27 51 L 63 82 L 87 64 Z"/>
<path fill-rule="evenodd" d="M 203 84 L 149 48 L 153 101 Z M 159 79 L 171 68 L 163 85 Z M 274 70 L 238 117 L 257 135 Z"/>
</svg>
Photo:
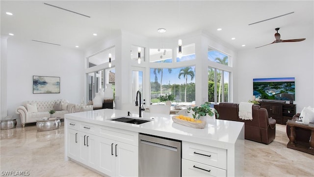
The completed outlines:
<svg viewBox="0 0 314 177">
<path fill-rule="evenodd" d="M 102 126 L 100 136 L 138 147 L 138 132 Z"/>
</svg>

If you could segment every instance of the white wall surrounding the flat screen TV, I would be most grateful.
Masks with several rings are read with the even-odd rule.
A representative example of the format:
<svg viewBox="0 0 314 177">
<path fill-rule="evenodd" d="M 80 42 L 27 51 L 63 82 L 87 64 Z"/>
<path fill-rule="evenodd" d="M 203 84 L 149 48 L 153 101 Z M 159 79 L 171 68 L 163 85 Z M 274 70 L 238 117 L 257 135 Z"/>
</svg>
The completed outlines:
<svg viewBox="0 0 314 177">
<path fill-rule="evenodd" d="M 297 106 L 297 113 L 303 107 L 314 107 L 313 44 L 312 35 L 302 42 L 277 43 L 239 51 L 235 102 L 251 99 L 253 78 L 295 77 L 294 104 Z"/>
</svg>

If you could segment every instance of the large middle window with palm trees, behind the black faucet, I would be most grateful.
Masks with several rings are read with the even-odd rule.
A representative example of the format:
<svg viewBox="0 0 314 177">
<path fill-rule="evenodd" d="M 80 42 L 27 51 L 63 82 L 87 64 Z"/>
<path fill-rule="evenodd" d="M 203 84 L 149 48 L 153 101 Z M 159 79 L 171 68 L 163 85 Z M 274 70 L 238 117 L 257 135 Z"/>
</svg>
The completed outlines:
<svg viewBox="0 0 314 177">
<path fill-rule="evenodd" d="M 195 66 L 180 68 L 151 68 L 151 102 L 159 103 L 159 96 L 173 94 L 175 104 L 195 101 Z"/>
</svg>

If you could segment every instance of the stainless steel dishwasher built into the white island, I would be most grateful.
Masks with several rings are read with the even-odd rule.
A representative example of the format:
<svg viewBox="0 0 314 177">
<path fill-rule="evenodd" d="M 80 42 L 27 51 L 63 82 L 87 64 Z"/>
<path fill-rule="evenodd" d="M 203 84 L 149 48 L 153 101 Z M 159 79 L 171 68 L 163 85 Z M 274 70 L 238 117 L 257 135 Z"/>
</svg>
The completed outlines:
<svg viewBox="0 0 314 177">
<path fill-rule="evenodd" d="M 181 177 L 181 141 L 147 134 L 138 140 L 140 177 Z"/>
</svg>

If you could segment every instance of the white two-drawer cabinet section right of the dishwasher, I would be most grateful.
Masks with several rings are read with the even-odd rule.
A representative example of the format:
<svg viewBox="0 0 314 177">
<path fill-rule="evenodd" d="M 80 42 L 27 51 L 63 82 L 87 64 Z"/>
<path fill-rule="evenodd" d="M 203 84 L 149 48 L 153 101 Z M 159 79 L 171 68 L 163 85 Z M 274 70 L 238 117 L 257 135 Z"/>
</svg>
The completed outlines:
<svg viewBox="0 0 314 177">
<path fill-rule="evenodd" d="M 226 177 L 227 150 L 182 142 L 183 177 Z"/>
</svg>

